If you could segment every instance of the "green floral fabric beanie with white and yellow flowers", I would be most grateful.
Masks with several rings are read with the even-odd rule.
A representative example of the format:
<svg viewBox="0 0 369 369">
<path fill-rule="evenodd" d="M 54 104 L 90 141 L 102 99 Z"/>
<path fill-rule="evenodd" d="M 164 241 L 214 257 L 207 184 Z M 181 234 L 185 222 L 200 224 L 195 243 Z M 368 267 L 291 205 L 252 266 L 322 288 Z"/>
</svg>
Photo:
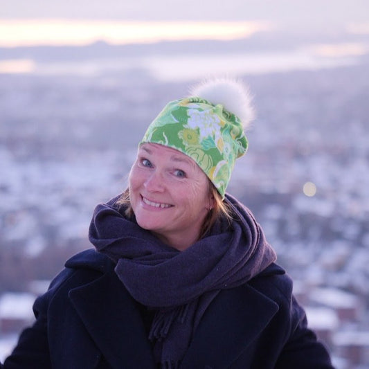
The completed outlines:
<svg viewBox="0 0 369 369">
<path fill-rule="evenodd" d="M 228 81 L 222 80 L 224 83 L 229 87 Z M 215 85 L 219 87 L 219 81 L 211 82 L 210 90 L 216 90 Z M 204 86 L 208 89 L 209 83 L 200 89 L 206 95 Z M 158 143 L 189 156 L 213 182 L 222 198 L 235 159 L 244 155 L 248 147 L 240 118 L 224 105 L 197 96 L 165 105 L 147 128 L 140 145 L 142 143 Z"/>
</svg>

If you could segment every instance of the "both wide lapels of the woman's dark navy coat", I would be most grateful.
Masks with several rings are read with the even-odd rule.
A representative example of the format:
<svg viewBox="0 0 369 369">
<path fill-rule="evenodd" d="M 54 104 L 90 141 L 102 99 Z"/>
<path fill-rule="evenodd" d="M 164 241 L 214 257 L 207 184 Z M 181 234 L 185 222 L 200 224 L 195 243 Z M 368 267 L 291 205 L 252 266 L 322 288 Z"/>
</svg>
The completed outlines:
<svg viewBox="0 0 369 369">
<path fill-rule="evenodd" d="M 129 368 L 155 367 L 137 304 L 114 270 L 71 290 L 69 296 L 113 368 L 121 368 L 122 363 L 129 363 Z M 228 367 L 277 311 L 276 303 L 249 285 L 221 291 L 201 319 L 181 368 Z"/>
</svg>

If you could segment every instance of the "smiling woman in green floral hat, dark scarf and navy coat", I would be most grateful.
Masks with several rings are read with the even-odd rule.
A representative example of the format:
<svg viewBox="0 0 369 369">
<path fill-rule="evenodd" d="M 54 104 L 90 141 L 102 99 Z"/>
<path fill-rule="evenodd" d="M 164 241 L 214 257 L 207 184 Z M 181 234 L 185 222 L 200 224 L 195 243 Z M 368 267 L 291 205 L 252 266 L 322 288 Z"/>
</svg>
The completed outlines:
<svg viewBox="0 0 369 369">
<path fill-rule="evenodd" d="M 251 120 L 242 84 L 169 102 L 96 250 L 66 262 L 3 368 L 332 368 L 253 215 L 226 194 Z"/>
</svg>

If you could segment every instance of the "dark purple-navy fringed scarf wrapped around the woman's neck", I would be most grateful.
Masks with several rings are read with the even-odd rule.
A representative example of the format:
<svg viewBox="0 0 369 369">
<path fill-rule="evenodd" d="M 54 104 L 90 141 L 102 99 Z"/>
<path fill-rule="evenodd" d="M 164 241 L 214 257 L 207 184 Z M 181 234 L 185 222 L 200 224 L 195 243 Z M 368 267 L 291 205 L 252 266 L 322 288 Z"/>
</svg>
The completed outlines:
<svg viewBox="0 0 369 369">
<path fill-rule="evenodd" d="M 112 199 L 93 213 L 89 240 L 116 262 L 132 297 L 154 309 L 149 339 L 162 368 L 178 368 L 201 316 L 220 290 L 247 282 L 276 260 L 250 210 L 230 195 L 233 221 L 219 219 L 185 251 L 127 219 Z"/>
</svg>

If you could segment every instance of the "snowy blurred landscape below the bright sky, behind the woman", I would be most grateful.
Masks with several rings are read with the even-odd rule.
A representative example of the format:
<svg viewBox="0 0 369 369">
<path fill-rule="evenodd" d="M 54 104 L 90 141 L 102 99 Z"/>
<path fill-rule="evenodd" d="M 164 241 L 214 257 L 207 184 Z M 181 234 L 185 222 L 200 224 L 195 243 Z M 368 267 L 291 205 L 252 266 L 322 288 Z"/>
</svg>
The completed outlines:
<svg viewBox="0 0 369 369">
<path fill-rule="evenodd" d="M 35 68 L 0 74 L 0 361 L 35 296 L 90 247 L 93 208 L 125 189 L 147 124 L 221 65 L 249 84 L 257 112 L 228 192 L 255 213 L 336 368 L 368 368 L 369 54 L 289 44 L 277 65 L 270 45 L 240 48 L 251 44 L 1 49 Z M 197 73 L 176 78 L 191 51 Z"/>
</svg>

